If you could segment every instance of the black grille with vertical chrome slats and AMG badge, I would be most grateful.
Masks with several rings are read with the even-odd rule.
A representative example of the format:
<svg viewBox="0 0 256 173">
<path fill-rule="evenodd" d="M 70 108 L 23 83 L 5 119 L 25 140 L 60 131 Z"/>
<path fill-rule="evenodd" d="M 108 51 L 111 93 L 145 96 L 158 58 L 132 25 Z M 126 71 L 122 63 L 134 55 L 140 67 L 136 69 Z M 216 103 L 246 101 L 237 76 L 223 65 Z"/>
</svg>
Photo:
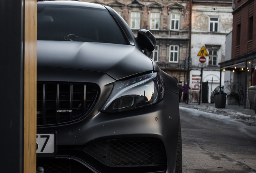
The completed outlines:
<svg viewBox="0 0 256 173">
<path fill-rule="evenodd" d="M 98 95 L 94 84 L 37 82 L 37 125 L 56 125 L 81 119 Z"/>
</svg>

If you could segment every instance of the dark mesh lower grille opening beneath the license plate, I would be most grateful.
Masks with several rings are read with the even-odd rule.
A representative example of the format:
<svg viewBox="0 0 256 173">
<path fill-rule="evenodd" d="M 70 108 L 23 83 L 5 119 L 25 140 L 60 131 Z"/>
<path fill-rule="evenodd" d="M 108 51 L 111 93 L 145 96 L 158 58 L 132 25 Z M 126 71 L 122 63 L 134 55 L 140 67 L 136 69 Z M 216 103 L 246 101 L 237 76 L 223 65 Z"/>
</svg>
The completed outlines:
<svg viewBox="0 0 256 173">
<path fill-rule="evenodd" d="M 37 159 L 37 167 L 43 167 L 44 173 L 93 173 L 72 159 Z"/>
</svg>

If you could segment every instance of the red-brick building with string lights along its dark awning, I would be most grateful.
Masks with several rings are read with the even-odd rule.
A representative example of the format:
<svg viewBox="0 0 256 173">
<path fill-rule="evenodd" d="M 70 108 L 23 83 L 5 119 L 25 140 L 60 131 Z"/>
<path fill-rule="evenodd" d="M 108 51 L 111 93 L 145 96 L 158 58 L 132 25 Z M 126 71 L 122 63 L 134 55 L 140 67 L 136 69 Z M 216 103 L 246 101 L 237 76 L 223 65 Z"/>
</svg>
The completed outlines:
<svg viewBox="0 0 256 173">
<path fill-rule="evenodd" d="M 231 59 L 221 62 L 220 67 L 225 70 L 225 80 L 232 80 L 243 91 L 243 105 L 250 108 L 248 90 L 256 66 L 256 0 L 237 0 L 232 7 Z"/>
</svg>

